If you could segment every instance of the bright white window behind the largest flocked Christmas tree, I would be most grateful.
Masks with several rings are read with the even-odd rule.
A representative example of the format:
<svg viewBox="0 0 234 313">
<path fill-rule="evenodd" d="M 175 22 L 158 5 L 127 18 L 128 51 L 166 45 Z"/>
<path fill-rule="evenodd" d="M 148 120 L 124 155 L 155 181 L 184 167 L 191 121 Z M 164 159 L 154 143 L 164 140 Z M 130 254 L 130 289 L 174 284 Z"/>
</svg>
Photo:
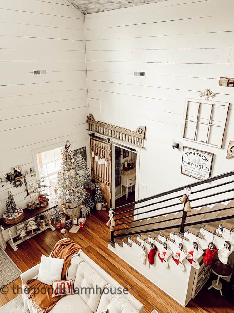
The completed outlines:
<svg viewBox="0 0 234 313">
<path fill-rule="evenodd" d="M 54 195 L 54 188 L 57 186 L 58 172 L 61 166 L 62 147 L 45 152 L 37 153 L 37 164 L 40 178 L 45 178 L 48 188 L 48 194 Z"/>
</svg>

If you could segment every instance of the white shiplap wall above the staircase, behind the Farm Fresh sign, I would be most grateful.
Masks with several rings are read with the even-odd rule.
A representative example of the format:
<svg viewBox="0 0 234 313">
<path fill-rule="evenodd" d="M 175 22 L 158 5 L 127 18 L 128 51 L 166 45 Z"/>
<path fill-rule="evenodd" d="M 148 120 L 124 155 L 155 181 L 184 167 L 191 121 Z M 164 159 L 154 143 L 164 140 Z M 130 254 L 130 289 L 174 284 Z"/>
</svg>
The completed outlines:
<svg viewBox="0 0 234 313">
<path fill-rule="evenodd" d="M 234 73 L 234 3 L 169 0 L 85 15 L 88 103 L 96 120 L 135 130 L 146 125 L 139 198 L 194 181 L 180 174 L 182 147 L 213 152 L 212 176 L 234 169 L 234 89 L 219 87 Z M 146 78 L 134 71 L 146 70 Z M 231 76 L 230 76 L 231 75 Z M 180 140 L 185 98 L 210 88 L 230 102 L 222 149 Z"/>
</svg>

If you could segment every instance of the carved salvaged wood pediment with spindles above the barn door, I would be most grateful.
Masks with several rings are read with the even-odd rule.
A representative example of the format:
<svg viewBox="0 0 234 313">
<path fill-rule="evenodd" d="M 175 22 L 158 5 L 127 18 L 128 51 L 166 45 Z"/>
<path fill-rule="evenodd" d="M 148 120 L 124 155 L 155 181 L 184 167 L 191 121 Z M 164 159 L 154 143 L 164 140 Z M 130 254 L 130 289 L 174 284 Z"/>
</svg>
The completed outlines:
<svg viewBox="0 0 234 313">
<path fill-rule="evenodd" d="M 115 126 L 105 122 L 95 121 L 92 114 L 87 116 L 88 130 L 102 134 L 111 138 L 119 139 L 128 142 L 134 146 L 143 147 L 146 126 L 139 126 L 136 131 Z"/>
</svg>

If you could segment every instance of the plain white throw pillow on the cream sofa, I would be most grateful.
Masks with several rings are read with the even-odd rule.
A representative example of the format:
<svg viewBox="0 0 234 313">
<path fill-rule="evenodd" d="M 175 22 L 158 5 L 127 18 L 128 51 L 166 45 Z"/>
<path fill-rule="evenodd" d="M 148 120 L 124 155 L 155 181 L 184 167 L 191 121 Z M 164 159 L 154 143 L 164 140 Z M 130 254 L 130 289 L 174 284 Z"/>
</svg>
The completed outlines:
<svg viewBox="0 0 234 313">
<path fill-rule="evenodd" d="M 61 280 L 64 259 L 56 259 L 42 254 L 37 279 L 44 284 L 52 285 L 53 280 Z"/>
</svg>

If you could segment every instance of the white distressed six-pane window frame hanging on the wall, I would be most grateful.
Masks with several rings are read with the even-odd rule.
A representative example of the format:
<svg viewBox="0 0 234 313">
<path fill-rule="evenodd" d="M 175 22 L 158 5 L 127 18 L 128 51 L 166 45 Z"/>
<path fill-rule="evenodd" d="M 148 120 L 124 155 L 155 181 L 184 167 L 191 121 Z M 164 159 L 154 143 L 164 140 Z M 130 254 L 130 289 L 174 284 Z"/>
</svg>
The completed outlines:
<svg viewBox="0 0 234 313">
<path fill-rule="evenodd" d="M 188 109 L 189 109 L 189 104 L 191 102 L 194 102 L 194 103 L 198 104 L 197 105 L 197 116 L 194 116 L 194 120 L 188 118 L 189 117 Z M 200 116 L 201 104 L 210 105 L 211 106 L 210 117 L 209 117 L 209 121 L 208 122 L 199 121 L 199 119 L 201 119 L 201 120 L 205 120 L 206 119 L 205 117 Z M 212 114 L 214 112 L 215 106 L 222 106 L 223 110 L 224 110 L 223 111 L 223 119 L 222 119 L 222 121 L 220 121 L 221 125 L 217 125 L 217 124 L 212 122 L 213 121 L 212 120 Z M 186 100 L 185 100 L 185 109 L 184 109 L 184 117 L 183 117 L 182 138 L 184 140 L 201 143 L 201 144 L 206 145 L 206 146 L 212 146 L 212 147 L 216 147 L 216 148 L 221 148 L 222 147 L 224 130 L 225 130 L 226 121 L 227 121 L 228 109 L 229 109 L 229 103 L 228 102 L 217 102 L 217 101 L 210 101 L 210 100 L 186 98 Z M 187 123 L 196 123 L 194 138 L 186 137 L 185 133 L 186 133 L 186 129 L 187 129 L 187 127 L 186 127 Z M 199 125 L 200 126 L 207 126 L 206 141 L 196 140 Z M 219 140 L 219 142 L 217 142 L 217 144 L 212 144 L 212 143 L 209 142 L 209 137 L 211 135 L 212 127 L 215 127 L 216 129 L 218 129 L 218 127 L 220 128 L 220 140 Z"/>
</svg>

